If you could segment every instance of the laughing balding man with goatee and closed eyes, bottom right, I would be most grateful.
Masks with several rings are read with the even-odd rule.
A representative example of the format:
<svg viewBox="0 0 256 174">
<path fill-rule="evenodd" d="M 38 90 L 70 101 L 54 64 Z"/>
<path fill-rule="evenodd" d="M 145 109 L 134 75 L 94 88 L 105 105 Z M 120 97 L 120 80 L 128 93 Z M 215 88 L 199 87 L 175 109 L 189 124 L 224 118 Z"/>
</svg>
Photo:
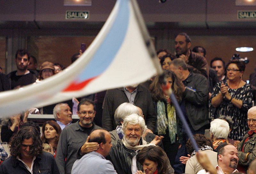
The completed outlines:
<svg viewBox="0 0 256 174">
<path fill-rule="evenodd" d="M 217 160 L 218 165 L 216 166 L 217 174 L 234 173 L 238 164 L 238 151 L 233 145 L 226 145 L 219 149 Z M 209 174 L 206 170 L 200 170 L 197 174 Z"/>
</svg>

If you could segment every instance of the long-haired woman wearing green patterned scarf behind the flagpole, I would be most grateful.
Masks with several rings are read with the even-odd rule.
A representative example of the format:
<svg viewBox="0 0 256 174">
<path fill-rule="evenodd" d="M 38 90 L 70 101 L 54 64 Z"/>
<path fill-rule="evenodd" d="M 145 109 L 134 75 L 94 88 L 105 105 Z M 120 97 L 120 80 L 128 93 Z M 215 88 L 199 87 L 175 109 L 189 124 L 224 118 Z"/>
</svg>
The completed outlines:
<svg viewBox="0 0 256 174">
<path fill-rule="evenodd" d="M 166 83 L 170 84 L 170 88 L 175 94 L 178 101 L 181 101 L 182 88 L 181 82 L 176 75 L 169 70 L 164 70 Z M 164 136 L 163 145 L 171 165 L 174 164 L 175 155 L 178 150 L 177 138 L 177 120 L 175 107 L 172 104 L 169 95 L 164 94 L 161 87 L 161 79 L 156 76 L 154 81 L 149 86 L 151 97 L 155 103 L 157 122 L 155 134 Z"/>
</svg>

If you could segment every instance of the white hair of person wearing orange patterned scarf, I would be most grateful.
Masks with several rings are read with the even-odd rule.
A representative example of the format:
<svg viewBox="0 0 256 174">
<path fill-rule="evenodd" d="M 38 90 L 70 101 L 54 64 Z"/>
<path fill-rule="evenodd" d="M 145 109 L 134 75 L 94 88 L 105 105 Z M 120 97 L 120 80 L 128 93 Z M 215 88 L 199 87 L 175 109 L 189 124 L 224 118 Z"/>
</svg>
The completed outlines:
<svg viewBox="0 0 256 174">
<path fill-rule="evenodd" d="M 221 119 L 214 119 L 211 122 L 210 133 L 212 133 L 213 137 L 216 139 L 227 139 L 229 133 L 228 122 Z"/>
</svg>

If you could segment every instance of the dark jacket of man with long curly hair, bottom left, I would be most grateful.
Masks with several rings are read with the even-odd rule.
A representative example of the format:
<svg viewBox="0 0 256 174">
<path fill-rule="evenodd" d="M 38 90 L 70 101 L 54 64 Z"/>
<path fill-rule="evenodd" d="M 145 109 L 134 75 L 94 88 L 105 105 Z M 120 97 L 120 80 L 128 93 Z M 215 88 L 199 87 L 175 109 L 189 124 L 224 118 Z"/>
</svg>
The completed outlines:
<svg viewBox="0 0 256 174">
<path fill-rule="evenodd" d="M 7 158 L 0 165 L 1 174 L 31 174 L 25 165 L 16 157 Z M 36 156 L 33 165 L 33 174 L 60 174 L 53 155 L 49 152 L 43 152 Z"/>
</svg>

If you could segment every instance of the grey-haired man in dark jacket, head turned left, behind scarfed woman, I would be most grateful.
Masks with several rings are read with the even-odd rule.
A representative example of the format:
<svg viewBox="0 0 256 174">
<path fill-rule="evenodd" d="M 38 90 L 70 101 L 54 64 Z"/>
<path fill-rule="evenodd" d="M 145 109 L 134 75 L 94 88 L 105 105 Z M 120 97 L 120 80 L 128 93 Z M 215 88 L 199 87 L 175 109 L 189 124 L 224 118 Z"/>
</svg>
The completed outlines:
<svg viewBox="0 0 256 174">
<path fill-rule="evenodd" d="M 183 82 L 183 113 L 193 134 L 204 134 L 208 121 L 208 81 L 201 74 L 188 71 L 183 59 L 172 60 L 170 70 Z"/>
</svg>

